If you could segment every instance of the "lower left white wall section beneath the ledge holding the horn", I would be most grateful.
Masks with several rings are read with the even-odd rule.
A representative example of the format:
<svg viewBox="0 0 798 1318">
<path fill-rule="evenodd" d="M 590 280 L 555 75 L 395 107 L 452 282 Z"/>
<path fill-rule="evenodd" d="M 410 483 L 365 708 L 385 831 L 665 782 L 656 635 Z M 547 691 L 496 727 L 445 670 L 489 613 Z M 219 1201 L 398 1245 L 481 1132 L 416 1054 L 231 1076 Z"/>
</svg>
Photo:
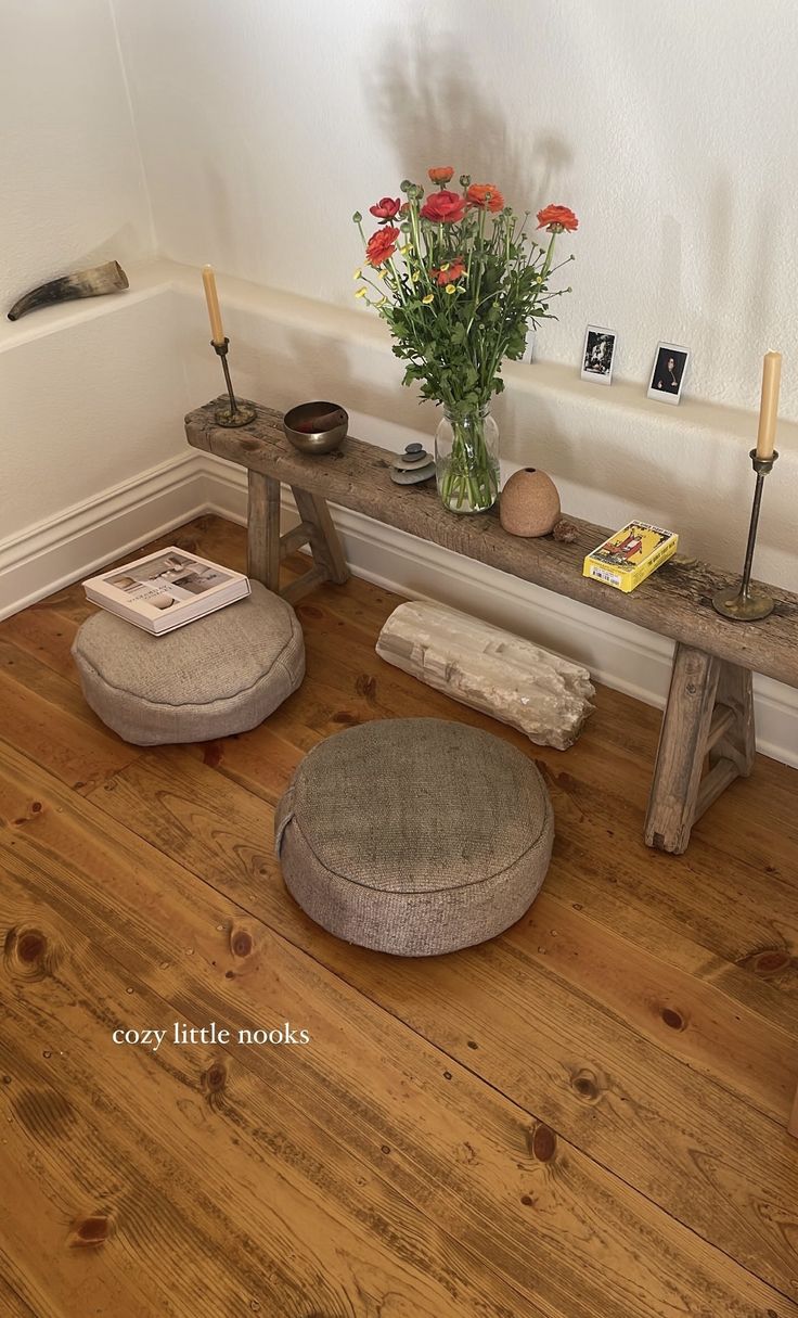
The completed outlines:
<svg viewBox="0 0 798 1318">
<path fill-rule="evenodd" d="M 0 548 L 184 448 L 184 382 L 169 290 L 30 312 L 0 337 Z M 46 332 L 46 330 L 51 332 Z"/>
</svg>

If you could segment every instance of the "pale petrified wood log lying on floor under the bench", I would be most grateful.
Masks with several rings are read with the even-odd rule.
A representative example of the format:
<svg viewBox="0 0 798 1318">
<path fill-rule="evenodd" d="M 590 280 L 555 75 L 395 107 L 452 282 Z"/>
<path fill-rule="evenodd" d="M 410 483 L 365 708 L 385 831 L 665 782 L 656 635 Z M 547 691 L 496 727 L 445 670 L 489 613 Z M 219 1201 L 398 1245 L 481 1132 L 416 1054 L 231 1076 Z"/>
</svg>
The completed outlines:
<svg viewBox="0 0 798 1318">
<path fill-rule="evenodd" d="M 586 668 L 442 604 L 400 604 L 377 654 L 539 746 L 572 746 L 593 709 Z"/>
</svg>

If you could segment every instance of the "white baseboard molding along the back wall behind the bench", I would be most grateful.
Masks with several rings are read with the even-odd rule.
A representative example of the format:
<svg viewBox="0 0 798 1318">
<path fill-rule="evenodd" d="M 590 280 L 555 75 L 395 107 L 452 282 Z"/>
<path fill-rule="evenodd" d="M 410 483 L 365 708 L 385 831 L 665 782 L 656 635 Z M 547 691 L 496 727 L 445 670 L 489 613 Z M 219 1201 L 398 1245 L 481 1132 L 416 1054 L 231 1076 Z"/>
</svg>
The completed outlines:
<svg viewBox="0 0 798 1318">
<path fill-rule="evenodd" d="M 208 511 L 246 522 L 242 471 L 204 457 Z M 283 490 L 284 525 L 299 518 Z M 594 679 L 647 705 L 665 705 L 673 643 L 474 559 L 396 531 L 359 513 L 332 509 L 352 571 L 387 590 L 439 600 L 583 663 Z M 755 677 L 757 749 L 798 768 L 798 691 Z"/>
</svg>

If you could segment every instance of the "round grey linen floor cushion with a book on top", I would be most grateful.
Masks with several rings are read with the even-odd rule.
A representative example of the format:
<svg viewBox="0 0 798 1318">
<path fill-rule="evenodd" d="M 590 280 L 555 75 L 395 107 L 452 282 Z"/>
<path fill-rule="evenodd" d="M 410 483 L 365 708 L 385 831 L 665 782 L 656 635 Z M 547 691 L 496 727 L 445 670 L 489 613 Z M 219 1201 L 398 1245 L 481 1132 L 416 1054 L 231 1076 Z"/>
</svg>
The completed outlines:
<svg viewBox="0 0 798 1318">
<path fill-rule="evenodd" d="M 246 600 L 165 637 L 92 613 L 72 656 L 93 712 L 137 746 L 246 731 L 304 676 L 296 614 L 257 581 Z"/>
</svg>

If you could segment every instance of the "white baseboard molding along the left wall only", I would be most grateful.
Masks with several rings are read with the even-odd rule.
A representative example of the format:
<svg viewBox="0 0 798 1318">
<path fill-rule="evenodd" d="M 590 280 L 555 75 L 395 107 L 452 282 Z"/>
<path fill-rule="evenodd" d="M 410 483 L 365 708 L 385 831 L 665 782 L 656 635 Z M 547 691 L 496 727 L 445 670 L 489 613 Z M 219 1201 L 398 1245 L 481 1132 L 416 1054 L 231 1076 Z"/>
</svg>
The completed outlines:
<svg viewBox="0 0 798 1318">
<path fill-rule="evenodd" d="M 0 618 L 88 576 L 207 510 L 192 449 L 0 542 Z"/>
</svg>

